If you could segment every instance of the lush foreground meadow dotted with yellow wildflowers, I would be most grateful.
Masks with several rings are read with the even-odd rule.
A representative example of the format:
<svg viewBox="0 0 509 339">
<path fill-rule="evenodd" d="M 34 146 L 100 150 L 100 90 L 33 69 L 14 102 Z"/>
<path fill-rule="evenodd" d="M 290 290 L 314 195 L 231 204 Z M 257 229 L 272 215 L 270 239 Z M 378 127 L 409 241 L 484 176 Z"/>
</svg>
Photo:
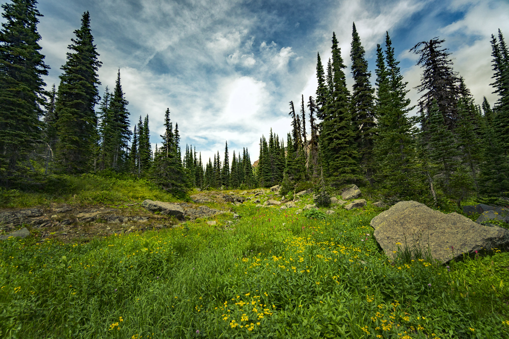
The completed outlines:
<svg viewBox="0 0 509 339">
<path fill-rule="evenodd" d="M 223 214 L 87 244 L 0 241 L 0 336 L 508 337 L 506 253 L 448 271 L 389 261 L 369 226 L 381 209 L 235 210 L 233 230 Z"/>
</svg>

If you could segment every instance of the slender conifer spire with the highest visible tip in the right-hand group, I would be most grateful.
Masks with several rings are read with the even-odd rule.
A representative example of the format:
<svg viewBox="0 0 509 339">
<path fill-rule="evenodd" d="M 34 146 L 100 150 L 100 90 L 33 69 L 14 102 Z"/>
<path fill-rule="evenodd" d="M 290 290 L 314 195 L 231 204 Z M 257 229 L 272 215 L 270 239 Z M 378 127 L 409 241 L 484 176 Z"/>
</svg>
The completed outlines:
<svg viewBox="0 0 509 339">
<path fill-rule="evenodd" d="M 355 143 L 359 151 L 360 165 L 364 169 L 367 179 L 372 176 L 373 166 L 373 138 L 375 136 L 375 97 L 374 89 L 371 86 L 371 72 L 367 70 L 367 60 L 364 57 L 365 51 L 360 43 L 360 38 L 355 29 L 352 29 L 352 87 L 351 110 L 353 130 L 355 131 Z"/>
</svg>

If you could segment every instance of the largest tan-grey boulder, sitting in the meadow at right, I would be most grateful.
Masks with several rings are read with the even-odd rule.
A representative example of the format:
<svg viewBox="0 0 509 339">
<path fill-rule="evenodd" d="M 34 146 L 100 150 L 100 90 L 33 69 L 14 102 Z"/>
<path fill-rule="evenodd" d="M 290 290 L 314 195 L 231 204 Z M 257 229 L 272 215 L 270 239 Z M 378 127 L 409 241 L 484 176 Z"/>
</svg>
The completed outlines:
<svg viewBox="0 0 509 339">
<path fill-rule="evenodd" d="M 429 244 L 433 258 L 443 263 L 463 257 L 463 253 L 509 249 L 509 230 L 482 226 L 456 212 L 444 214 L 416 201 L 395 204 L 373 218 L 370 225 L 389 258 L 397 250 L 397 242 L 405 244 L 405 237 L 407 245 L 415 241 L 423 252 Z"/>
</svg>

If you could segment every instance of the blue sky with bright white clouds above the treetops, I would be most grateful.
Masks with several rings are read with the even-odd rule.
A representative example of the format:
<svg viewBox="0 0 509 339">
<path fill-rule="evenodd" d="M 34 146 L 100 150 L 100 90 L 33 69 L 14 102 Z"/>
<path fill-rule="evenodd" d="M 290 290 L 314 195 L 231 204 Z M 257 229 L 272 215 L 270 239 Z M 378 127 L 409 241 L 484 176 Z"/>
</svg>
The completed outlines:
<svg viewBox="0 0 509 339">
<path fill-rule="evenodd" d="M 182 148 L 195 145 L 204 160 L 228 140 L 230 153 L 248 147 L 254 161 L 262 134 L 272 128 L 286 136 L 288 103 L 315 95 L 316 54 L 326 63 L 333 31 L 351 65 L 352 22 L 372 71 L 388 30 L 409 89 L 419 84 L 420 69 L 408 50 L 445 39 L 479 104 L 483 96 L 497 99 L 489 86 L 490 36 L 500 28 L 509 37 L 504 0 L 41 0 L 39 10 L 48 86 L 59 83 L 73 30 L 89 11 L 103 63 L 101 94 L 120 68 L 131 122 L 148 114 L 151 141 L 160 143 L 168 107 Z M 415 104 L 415 89 L 409 96 Z"/>
</svg>

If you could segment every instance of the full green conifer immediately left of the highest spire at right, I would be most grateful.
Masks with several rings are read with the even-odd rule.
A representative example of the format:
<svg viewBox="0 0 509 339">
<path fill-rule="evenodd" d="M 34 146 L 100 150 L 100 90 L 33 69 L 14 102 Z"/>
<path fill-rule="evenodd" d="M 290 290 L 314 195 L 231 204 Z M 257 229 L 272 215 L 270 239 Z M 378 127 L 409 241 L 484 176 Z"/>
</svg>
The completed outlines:
<svg viewBox="0 0 509 339">
<path fill-rule="evenodd" d="M 336 183 L 360 179 L 356 159 L 357 145 L 352 129 L 350 112 L 350 93 L 346 85 L 343 69 L 346 66 L 341 57 L 335 33 L 332 34 L 332 94 L 326 105 L 326 114 L 322 124 L 320 141 L 324 148 L 328 175 Z"/>
</svg>

